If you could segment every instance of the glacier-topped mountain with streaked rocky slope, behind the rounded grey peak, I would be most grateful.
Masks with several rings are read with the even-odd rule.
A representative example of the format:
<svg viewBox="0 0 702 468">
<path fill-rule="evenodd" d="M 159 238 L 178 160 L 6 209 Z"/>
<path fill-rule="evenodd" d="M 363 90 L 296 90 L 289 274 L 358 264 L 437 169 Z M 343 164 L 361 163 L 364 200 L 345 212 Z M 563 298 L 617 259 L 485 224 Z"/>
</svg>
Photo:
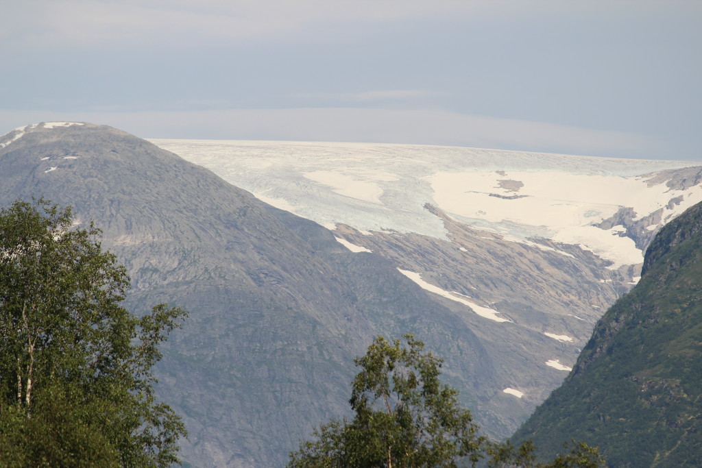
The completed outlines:
<svg viewBox="0 0 702 468">
<path fill-rule="evenodd" d="M 495 437 L 562 383 L 597 319 L 638 281 L 658 229 L 702 201 L 702 168 L 680 161 L 152 141 L 388 260 L 449 308 L 490 356 L 492 380 L 457 388 Z M 444 356 L 453 373 L 456 357 Z"/>
</svg>

